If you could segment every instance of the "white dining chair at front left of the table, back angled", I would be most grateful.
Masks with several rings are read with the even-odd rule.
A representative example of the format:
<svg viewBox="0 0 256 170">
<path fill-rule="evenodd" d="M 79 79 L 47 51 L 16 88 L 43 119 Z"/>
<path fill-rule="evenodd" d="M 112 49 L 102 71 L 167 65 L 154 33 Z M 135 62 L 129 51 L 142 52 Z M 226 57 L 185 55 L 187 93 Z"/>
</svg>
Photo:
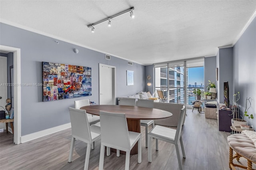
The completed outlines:
<svg viewBox="0 0 256 170">
<path fill-rule="evenodd" d="M 72 162 L 72 156 L 73 156 L 73 150 L 74 150 L 74 144 L 75 144 L 75 138 L 76 138 L 77 140 L 81 140 L 87 143 L 84 170 L 88 170 L 91 144 L 95 140 L 100 139 L 100 128 L 95 125 L 89 126 L 89 122 L 88 122 L 85 110 L 74 109 L 72 107 L 69 107 L 69 113 L 70 113 L 71 129 L 72 129 L 72 138 L 71 138 L 68 162 Z"/>
</svg>

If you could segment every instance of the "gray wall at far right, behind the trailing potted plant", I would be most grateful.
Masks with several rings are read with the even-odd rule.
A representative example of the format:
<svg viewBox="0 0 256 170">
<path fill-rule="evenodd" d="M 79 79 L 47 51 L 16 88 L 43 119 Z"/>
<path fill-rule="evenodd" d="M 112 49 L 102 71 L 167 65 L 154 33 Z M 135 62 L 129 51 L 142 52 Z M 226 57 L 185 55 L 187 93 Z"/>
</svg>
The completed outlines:
<svg viewBox="0 0 256 170">
<path fill-rule="evenodd" d="M 233 65 L 233 92 L 240 92 L 240 115 L 245 110 L 246 97 L 251 97 L 248 114 L 253 114 L 254 119 L 246 117 L 246 121 L 256 129 L 256 18 L 233 47 Z"/>
</svg>

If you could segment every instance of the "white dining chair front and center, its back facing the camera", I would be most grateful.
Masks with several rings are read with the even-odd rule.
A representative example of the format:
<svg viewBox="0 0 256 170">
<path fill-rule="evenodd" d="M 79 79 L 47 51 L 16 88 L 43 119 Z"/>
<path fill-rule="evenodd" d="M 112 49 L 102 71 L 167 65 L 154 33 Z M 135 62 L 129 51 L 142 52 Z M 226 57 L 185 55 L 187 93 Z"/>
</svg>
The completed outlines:
<svg viewBox="0 0 256 170">
<path fill-rule="evenodd" d="M 99 170 L 103 170 L 105 146 L 114 148 L 119 152 L 126 152 L 125 170 L 129 170 L 130 151 L 138 142 L 138 163 L 141 163 L 141 133 L 128 131 L 127 121 L 124 113 L 110 113 L 100 111 L 100 163 Z M 119 156 L 120 153 L 117 153 Z"/>
</svg>

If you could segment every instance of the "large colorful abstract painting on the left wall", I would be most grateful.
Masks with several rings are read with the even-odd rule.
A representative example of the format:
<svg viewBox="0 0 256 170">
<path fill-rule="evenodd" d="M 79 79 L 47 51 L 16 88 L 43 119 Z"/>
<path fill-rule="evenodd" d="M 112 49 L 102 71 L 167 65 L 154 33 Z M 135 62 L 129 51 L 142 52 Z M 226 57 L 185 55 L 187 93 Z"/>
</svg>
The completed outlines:
<svg viewBox="0 0 256 170">
<path fill-rule="evenodd" d="M 43 101 L 92 95 L 92 69 L 68 64 L 42 62 Z"/>
</svg>

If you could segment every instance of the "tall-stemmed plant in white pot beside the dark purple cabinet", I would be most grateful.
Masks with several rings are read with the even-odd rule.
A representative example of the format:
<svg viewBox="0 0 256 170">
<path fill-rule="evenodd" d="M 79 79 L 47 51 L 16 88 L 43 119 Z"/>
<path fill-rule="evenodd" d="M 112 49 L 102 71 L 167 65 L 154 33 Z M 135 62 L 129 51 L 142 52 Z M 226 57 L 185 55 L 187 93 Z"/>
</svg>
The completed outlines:
<svg viewBox="0 0 256 170">
<path fill-rule="evenodd" d="M 239 101 L 240 99 L 240 93 L 238 91 L 238 93 L 234 94 L 234 101 L 233 101 L 233 105 L 232 105 L 232 114 L 233 115 L 233 119 L 231 119 L 231 124 L 232 127 L 235 128 L 236 126 L 241 126 L 241 125 L 247 125 L 247 121 L 244 121 L 243 119 L 239 119 Z"/>
</svg>

